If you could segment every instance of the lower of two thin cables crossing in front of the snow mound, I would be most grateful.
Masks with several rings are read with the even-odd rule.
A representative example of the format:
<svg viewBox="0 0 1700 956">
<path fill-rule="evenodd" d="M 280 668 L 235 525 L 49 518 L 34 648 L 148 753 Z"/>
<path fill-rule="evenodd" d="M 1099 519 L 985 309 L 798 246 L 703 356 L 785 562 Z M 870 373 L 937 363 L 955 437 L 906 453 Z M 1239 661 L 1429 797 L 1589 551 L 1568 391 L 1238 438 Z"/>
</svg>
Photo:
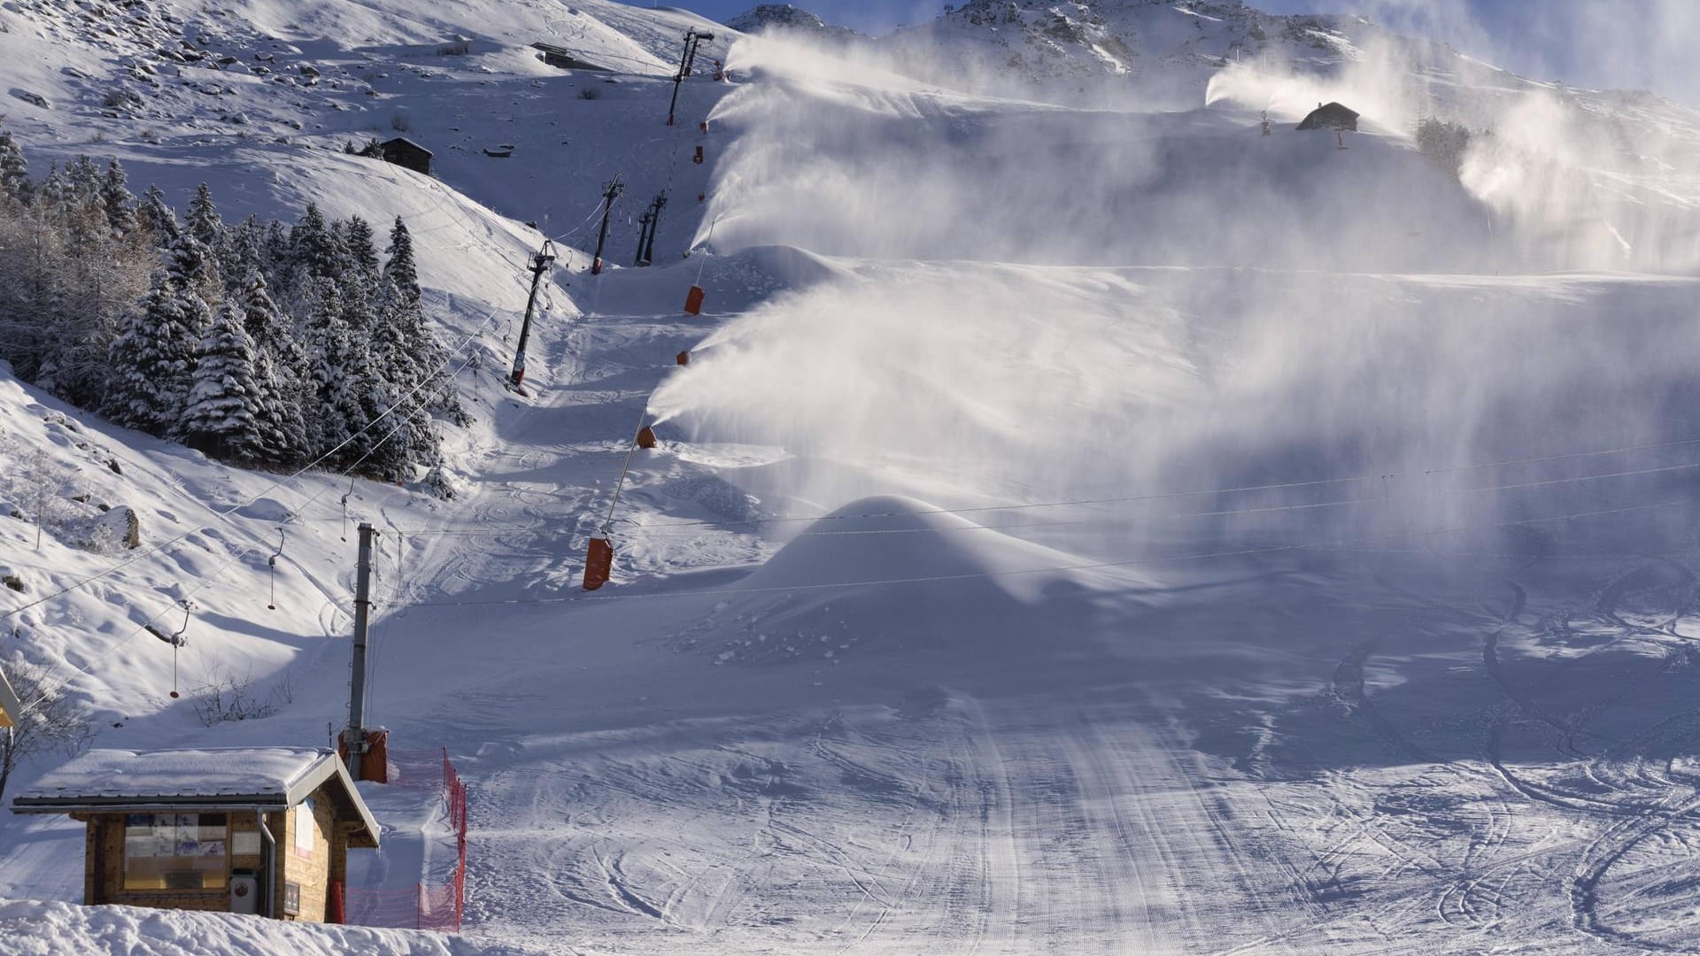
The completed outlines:
<svg viewBox="0 0 1700 956">
<path fill-rule="evenodd" d="M 855 582 L 823 582 L 823 583 L 799 583 L 799 585 L 770 585 L 770 587 L 745 587 L 745 589 L 704 589 L 704 590 L 678 590 L 678 592 L 649 592 L 649 594 L 578 594 L 570 597 L 513 597 L 513 599 L 491 599 L 491 600 L 420 600 L 406 604 L 406 607 L 481 607 L 496 604 L 575 604 L 580 600 L 648 600 L 648 599 L 668 599 L 668 597 L 695 597 L 695 595 L 748 595 L 763 592 L 797 592 L 797 590 L 842 590 L 852 587 L 887 587 L 887 585 L 904 585 L 904 583 L 944 583 L 957 580 L 981 580 L 981 578 L 1001 578 L 1001 577 L 1018 577 L 1018 575 L 1042 575 L 1042 573 L 1059 573 L 1059 572 L 1086 572 L 1086 570 L 1103 570 L 1103 568 L 1127 568 L 1139 565 L 1166 565 L 1180 561 L 1200 561 L 1214 558 L 1239 558 L 1253 555 L 1275 555 L 1290 551 L 1331 551 L 1340 546 L 1352 549 L 1353 546 L 1370 544 L 1375 541 L 1389 541 L 1401 538 L 1423 538 L 1436 534 L 1454 534 L 1460 531 L 1472 529 L 1491 529 L 1491 527 L 1522 527 L 1530 524 L 1544 524 L 1552 521 L 1574 521 L 1583 517 L 1601 517 L 1615 514 L 1629 514 L 1639 510 L 1666 509 L 1676 505 L 1692 504 L 1688 498 L 1678 498 L 1669 502 L 1654 502 L 1646 505 L 1629 505 L 1620 509 L 1601 509 L 1591 512 L 1569 512 L 1556 514 L 1545 517 L 1530 517 L 1494 524 L 1462 524 L 1454 527 L 1433 527 L 1421 531 L 1399 531 L 1380 534 L 1367 539 L 1340 539 L 1316 544 L 1272 544 L 1263 548 L 1238 548 L 1231 551 L 1204 551 L 1193 555 L 1164 555 L 1153 558 L 1132 558 L 1122 561 L 1088 561 L 1080 565 L 1052 565 L 1044 568 L 1015 568 L 1003 572 L 972 572 L 962 575 L 928 575 L 928 577 L 910 577 L 910 578 L 872 578 L 872 580 L 855 580 Z"/>
</svg>

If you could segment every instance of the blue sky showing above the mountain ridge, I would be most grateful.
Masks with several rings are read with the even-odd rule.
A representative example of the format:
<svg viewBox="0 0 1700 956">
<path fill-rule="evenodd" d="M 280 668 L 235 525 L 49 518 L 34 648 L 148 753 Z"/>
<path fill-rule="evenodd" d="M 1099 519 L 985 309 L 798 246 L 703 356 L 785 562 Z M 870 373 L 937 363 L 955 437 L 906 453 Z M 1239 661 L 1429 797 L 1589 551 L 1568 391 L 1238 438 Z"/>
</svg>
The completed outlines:
<svg viewBox="0 0 1700 956">
<path fill-rule="evenodd" d="M 724 20 L 758 0 L 670 0 Z M 646 7 L 649 3 L 636 3 Z M 944 2 L 804 0 L 864 32 L 932 19 Z M 1270 14 L 1358 12 L 1489 63 L 1576 87 L 1651 88 L 1700 105 L 1700 0 L 1251 0 Z"/>
</svg>

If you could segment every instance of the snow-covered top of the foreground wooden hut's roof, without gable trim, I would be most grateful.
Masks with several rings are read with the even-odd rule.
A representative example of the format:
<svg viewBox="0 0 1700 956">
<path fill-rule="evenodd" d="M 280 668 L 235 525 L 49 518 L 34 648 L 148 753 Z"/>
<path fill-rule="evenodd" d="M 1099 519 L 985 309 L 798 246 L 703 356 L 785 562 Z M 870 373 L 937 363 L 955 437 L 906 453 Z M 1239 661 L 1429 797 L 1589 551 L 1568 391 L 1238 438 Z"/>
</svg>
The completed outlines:
<svg viewBox="0 0 1700 956">
<path fill-rule="evenodd" d="M 41 777 L 20 800 L 286 796 L 330 750 L 228 747 L 88 750 Z"/>
</svg>

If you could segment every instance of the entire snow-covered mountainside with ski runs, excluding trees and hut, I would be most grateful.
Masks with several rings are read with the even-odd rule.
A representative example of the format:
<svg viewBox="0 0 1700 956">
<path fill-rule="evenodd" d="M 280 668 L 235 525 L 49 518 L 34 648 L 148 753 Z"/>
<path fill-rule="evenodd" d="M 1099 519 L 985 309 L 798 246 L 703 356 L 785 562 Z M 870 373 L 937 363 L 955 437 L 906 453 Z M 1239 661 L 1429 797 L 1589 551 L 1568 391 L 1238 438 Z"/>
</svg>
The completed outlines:
<svg viewBox="0 0 1700 956">
<path fill-rule="evenodd" d="M 104 747 L 318 745 L 371 521 L 372 723 L 471 788 L 461 939 L 68 908 L 82 828 L 7 817 L 22 951 L 1700 941 L 1688 107 L 1227 0 L 826 44 L 602 0 L 0 17 L 37 175 L 403 216 L 473 417 L 440 500 L 0 373 L 0 660 Z M 1358 131 L 1294 131 L 1318 100 Z M 1476 134 L 1425 155 L 1421 116 Z M 432 175 L 342 151 L 394 134 Z M 264 713 L 202 720 L 231 680 Z M 406 893 L 439 808 L 362 789 L 350 883 Z"/>
</svg>

